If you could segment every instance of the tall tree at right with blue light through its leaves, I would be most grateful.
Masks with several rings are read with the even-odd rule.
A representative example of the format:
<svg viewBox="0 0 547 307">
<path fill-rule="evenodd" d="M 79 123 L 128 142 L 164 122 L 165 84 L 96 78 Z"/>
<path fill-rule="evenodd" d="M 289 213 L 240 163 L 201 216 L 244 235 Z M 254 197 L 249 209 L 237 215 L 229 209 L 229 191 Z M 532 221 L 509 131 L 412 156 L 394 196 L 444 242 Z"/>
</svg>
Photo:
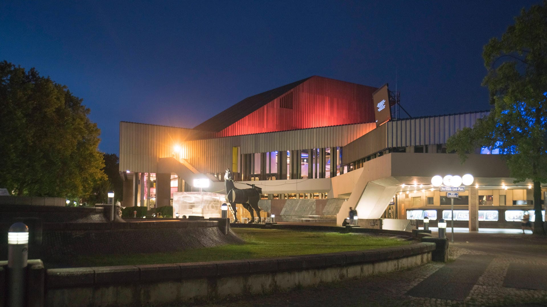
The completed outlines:
<svg viewBox="0 0 547 307">
<path fill-rule="evenodd" d="M 462 161 L 465 153 L 499 149 L 515 182 L 533 181 L 534 233 L 545 234 L 541 183 L 547 181 L 547 1 L 522 9 L 501 39 L 482 53 L 492 111 L 447 141 Z"/>
</svg>

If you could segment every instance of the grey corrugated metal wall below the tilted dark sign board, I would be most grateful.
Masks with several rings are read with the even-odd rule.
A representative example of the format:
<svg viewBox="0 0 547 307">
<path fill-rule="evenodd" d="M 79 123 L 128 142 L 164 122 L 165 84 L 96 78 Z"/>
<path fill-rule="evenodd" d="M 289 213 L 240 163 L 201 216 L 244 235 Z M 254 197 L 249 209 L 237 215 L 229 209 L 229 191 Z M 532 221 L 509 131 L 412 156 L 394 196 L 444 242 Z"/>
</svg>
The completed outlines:
<svg viewBox="0 0 547 307">
<path fill-rule="evenodd" d="M 388 121 L 348 143 L 342 149 L 342 164 L 348 164 L 392 147 L 444 144 L 456 131 L 472 127 L 488 112 L 441 115 Z"/>
</svg>

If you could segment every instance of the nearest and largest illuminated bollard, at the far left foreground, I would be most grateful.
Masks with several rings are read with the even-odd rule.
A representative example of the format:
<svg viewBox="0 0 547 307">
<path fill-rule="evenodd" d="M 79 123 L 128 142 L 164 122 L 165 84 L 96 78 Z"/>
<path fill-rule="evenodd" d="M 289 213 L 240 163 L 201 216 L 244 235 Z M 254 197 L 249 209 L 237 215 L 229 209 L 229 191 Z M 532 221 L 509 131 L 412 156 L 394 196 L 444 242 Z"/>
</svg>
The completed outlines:
<svg viewBox="0 0 547 307">
<path fill-rule="evenodd" d="M 9 306 L 25 305 L 28 227 L 15 223 L 8 230 Z"/>
</svg>

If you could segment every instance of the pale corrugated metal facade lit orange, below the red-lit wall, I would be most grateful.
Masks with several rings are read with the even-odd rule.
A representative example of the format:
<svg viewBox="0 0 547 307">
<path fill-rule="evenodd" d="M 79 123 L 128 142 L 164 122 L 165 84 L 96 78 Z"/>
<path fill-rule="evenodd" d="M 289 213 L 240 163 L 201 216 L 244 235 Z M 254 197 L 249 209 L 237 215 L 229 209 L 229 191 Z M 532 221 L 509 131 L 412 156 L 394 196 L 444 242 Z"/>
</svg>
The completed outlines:
<svg viewBox="0 0 547 307">
<path fill-rule="evenodd" d="M 199 131 L 158 125 L 120 123 L 120 170 L 156 172 L 159 158 L 172 157 L 179 144 L 182 158 L 203 173 L 224 172 L 232 163 L 232 147 L 241 154 L 345 146 L 376 128 L 354 124 L 195 140 Z"/>
</svg>

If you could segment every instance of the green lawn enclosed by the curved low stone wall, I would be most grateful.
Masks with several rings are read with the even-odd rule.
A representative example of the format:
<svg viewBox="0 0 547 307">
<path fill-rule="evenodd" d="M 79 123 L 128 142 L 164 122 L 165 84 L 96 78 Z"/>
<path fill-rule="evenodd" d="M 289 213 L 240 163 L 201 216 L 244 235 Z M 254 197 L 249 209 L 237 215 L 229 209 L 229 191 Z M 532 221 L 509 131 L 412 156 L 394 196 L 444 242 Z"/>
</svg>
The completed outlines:
<svg viewBox="0 0 547 307">
<path fill-rule="evenodd" d="M 233 228 L 246 244 L 194 248 L 181 252 L 82 256 L 74 265 L 136 265 L 202 262 L 371 250 L 406 245 L 409 241 L 356 233 L 327 233 L 278 229 Z"/>
</svg>

